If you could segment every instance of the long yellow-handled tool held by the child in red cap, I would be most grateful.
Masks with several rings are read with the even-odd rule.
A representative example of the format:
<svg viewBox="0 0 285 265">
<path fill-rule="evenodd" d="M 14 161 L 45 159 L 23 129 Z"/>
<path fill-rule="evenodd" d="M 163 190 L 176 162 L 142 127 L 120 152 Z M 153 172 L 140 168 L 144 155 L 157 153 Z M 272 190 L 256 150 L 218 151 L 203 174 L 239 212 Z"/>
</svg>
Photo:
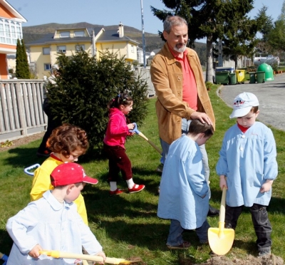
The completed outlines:
<svg viewBox="0 0 285 265">
<path fill-rule="evenodd" d="M 74 254 L 71 252 L 63 252 L 57 250 L 42 250 L 39 251 L 40 254 L 46 256 L 52 256 L 53 258 L 59 259 L 82 259 L 86 261 L 95 261 L 95 262 L 103 262 L 102 256 L 93 256 L 93 255 L 86 255 L 86 254 Z M 116 259 L 116 258 L 106 258 L 106 264 L 132 264 L 133 262 L 138 261 L 126 261 L 125 259 Z"/>
</svg>

